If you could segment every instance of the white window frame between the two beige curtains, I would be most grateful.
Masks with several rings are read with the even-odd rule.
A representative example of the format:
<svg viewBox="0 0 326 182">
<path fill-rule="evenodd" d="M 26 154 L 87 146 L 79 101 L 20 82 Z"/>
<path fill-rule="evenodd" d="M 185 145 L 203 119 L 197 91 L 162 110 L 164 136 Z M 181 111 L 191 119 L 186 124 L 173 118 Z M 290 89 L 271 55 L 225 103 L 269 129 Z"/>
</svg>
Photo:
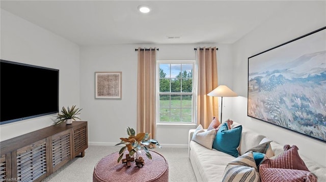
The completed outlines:
<svg viewBox="0 0 326 182">
<path fill-rule="evenodd" d="M 161 122 L 159 121 L 159 64 L 193 64 L 192 121 L 191 122 Z M 170 70 L 171 71 L 171 70 Z M 170 72 L 171 74 L 171 72 Z M 178 94 L 179 95 L 179 94 Z M 182 93 L 180 94 L 182 95 Z M 156 61 L 156 124 L 196 124 L 197 111 L 197 63 L 196 60 L 157 60 Z"/>
</svg>

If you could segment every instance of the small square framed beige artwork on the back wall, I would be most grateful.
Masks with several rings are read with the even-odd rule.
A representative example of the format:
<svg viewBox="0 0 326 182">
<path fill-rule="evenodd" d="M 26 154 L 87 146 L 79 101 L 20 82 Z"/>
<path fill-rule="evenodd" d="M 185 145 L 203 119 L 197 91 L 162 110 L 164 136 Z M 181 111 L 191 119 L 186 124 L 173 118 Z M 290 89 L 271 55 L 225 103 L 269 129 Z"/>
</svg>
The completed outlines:
<svg viewBox="0 0 326 182">
<path fill-rule="evenodd" d="M 121 99 L 122 72 L 95 72 L 95 98 Z"/>
</svg>

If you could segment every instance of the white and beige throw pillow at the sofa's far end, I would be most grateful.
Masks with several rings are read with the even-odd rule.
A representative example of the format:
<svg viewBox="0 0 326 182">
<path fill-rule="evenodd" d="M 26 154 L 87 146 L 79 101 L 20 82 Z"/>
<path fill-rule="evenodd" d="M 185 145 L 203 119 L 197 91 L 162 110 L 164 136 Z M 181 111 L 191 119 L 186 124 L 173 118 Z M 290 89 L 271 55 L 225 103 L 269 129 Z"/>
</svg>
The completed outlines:
<svg viewBox="0 0 326 182">
<path fill-rule="evenodd" d="M 213 141 L 216 136 L 216 131 L 215 130 L 208 130 L 205 131 L 203 129 L 203 126 L 200 124 L 197 128 L 196 131 L 194 132 L 193 141 L 196 141 L 197 143 L 203 145 L 207 149 L 212 149 L 213 146 Z"/>
</svg>

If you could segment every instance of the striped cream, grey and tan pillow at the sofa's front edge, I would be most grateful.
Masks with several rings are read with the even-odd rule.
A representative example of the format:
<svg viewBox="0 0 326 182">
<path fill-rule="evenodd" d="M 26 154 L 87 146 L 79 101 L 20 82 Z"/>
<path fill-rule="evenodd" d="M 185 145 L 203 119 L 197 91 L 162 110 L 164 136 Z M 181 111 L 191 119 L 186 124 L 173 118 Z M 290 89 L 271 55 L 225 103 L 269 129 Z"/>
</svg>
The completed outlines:
<svg viewBox="0 0 326 182">
<path fill-rule="evenodd" d="M 254 160 L 253 152 L 250 151 L 229 162 L 226 166 L 222 182 L 252 181 L 259 182 L 260 177 Z"/>
</svg>

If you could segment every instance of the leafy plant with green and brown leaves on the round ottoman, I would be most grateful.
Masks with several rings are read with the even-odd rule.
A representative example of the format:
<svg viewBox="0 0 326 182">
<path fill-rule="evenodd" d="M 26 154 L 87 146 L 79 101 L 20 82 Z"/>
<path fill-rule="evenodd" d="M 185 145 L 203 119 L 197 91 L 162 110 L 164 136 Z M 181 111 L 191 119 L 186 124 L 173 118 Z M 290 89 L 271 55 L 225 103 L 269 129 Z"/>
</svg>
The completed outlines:
<svg viewBox="0 0 326 182">
<path fill-rule="evenodd" d="M 117 143 L 117 145 L 125 144 L 125 147 L 121 148 L 119 151 L 119 158 L 118 163 L 123 157 L 124 151 L 128 150 L 129 156 L 136 155 L 136 158 L 138 159 L 138 151 L 144 150 L 146 153 L 146 157 L 148 159 L 152 159 L 152 155 L 150 154 L 148 147 L 150 145 L 157 145 L 160 149 L 162 148 L 161 145 L 158 143 L 158 141 L 154 139 L 148 139 L 150 136 L 150 133 L 138 133 L 135 135 L 135 131 L 132 128 L 127 128 L 127 134 L 129 135 L 128 138 L 120 138 L 120 143 Z"/>
</svg>

